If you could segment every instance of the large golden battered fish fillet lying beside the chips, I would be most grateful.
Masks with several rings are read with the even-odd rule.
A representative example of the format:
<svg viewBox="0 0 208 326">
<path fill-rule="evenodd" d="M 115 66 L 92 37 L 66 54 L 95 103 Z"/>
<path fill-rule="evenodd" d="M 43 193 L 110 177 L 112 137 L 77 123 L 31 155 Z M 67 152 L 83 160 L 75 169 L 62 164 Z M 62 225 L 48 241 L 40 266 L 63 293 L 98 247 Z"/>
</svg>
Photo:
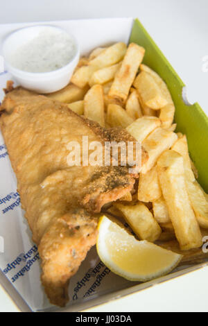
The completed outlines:
<svg viewBox="0 0 208 326">
<path fill-rule="evenodd" d="M 82 144 L 84 135 L 101 144 L 132 138 L 21 87 L 6 94 L 0 110 L 21 205 L 42 259 L 42 284 L 51 303 L 64 306 L 70 277 L 96 243 L 95 213 L 130 191 L 137 177 L 126 166 L 70 167 L 67 144 Z"/>
</svg>

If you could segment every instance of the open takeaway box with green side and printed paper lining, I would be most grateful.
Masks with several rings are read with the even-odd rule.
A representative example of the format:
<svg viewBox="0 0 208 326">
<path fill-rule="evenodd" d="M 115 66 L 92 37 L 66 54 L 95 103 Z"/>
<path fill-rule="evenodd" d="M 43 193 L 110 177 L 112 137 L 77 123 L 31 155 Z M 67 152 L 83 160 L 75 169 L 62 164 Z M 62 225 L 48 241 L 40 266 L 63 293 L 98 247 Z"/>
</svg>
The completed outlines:
<svg viewBox="0 0 208 326">
<path fill-rule="evenodd" d="M 0 44 L 8 33 L 33 24 L 6 24 L 0 27 Z M 89 19 L 62 22 L 44 22 L 71 31 L 80 43 L 81 53 L 87 54 L 97 46 L 114 42 L 136 42 L 144 46 L 144 62 L 165 80 L 175 103 L 177 130 L 187 135 L 189 151 L 196 164 L 200 185 L 208 191 L 208 118 L 196 103 L 186 105 L 182 98 L 184 84 L 177 76 L 164 55 L 136 19 Z M 1 48 L 0 48 L 1 55 Z M 5 71 L 0 74 L 0 89 L 11 76 Z M 3 91 L 0 91 L 0 101 Z M 80 311 L 109 300 L 129 295 L 153 284 L 158 284 L 189 273 L 207 265 L 182 266 L 166 277 L 138 284 L 114 275 L 100 261 L 96 249 L 92 248 L 78 273 L 69 284 L 70 302 L 64 309 L 49 304 L 40 284 L 40 264 L 36 246 L 31 241 L 31 231 L 21 210 L 15 175 L 10 166 L 6 146 L 0 134 L 0 236 L 4 241 L 4 252 L 0 253 L 0 282 L 5 291 L 17 304 L 20 311 Z M 12 205 L 14 204 L 14 205 Z M 11 206 L 12 205 L 12 206 Z M 10 208 L 8 208 L 10 207 Z"/>
</svg>

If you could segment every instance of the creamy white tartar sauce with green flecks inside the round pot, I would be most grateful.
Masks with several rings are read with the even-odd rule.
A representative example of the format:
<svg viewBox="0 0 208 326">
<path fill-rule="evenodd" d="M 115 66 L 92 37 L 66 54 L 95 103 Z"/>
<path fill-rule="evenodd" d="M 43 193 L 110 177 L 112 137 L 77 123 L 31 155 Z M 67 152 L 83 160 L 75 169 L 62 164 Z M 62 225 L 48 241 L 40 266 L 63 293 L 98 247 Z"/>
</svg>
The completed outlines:
<svg viewBox="0 0 208 326">
<path fill-rule="evenodd" d="M 67 32 L 43 28 L 32 40 L 12 51 L 9 62 L 22 71 L 49 72 L 67 65 L 75 53 L 76 45 Z"/>
</svg>

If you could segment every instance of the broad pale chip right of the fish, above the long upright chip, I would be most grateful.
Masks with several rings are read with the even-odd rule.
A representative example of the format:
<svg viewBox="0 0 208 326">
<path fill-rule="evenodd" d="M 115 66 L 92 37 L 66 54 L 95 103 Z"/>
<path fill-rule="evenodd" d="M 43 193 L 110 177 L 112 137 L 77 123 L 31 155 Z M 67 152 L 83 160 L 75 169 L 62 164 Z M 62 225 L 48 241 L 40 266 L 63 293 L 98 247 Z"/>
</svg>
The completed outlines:
<svg viewBox="0 0 208 326">
<path fill-rule="evenodd" d="M 171 148 L 177 135 L 174 132 L 168 131 L 164 128 L 157 128 L 142 141 L 142 146 L 148 153 L 148 161 L 141 167 L 141 173 L 147 173 L 156 164 L 158 157 Z"/>
</svg>

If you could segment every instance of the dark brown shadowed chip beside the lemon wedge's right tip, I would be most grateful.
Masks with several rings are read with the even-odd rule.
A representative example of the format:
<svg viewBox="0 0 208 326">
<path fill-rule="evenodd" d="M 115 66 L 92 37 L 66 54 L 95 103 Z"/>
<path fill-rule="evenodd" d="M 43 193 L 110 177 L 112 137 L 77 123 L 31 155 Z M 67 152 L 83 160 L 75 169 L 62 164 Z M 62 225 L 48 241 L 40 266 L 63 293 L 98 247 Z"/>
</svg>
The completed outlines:
<svg viewBox="0 0 208 326">
<path fill-rule="evenodd" d="M 205 253 L 202 251 L 202 248 L 191 249 L 191 250 L 181 250 L 178 242 L 176 240 L 162 242 L 159 244 L 164 249 L 177 252 L 180 255 L 183 255 L 180 265 L 186 264 L 199 264 L 200 262 L 205 261 L 208 257 L 208 252 Z"/>
</svg>

